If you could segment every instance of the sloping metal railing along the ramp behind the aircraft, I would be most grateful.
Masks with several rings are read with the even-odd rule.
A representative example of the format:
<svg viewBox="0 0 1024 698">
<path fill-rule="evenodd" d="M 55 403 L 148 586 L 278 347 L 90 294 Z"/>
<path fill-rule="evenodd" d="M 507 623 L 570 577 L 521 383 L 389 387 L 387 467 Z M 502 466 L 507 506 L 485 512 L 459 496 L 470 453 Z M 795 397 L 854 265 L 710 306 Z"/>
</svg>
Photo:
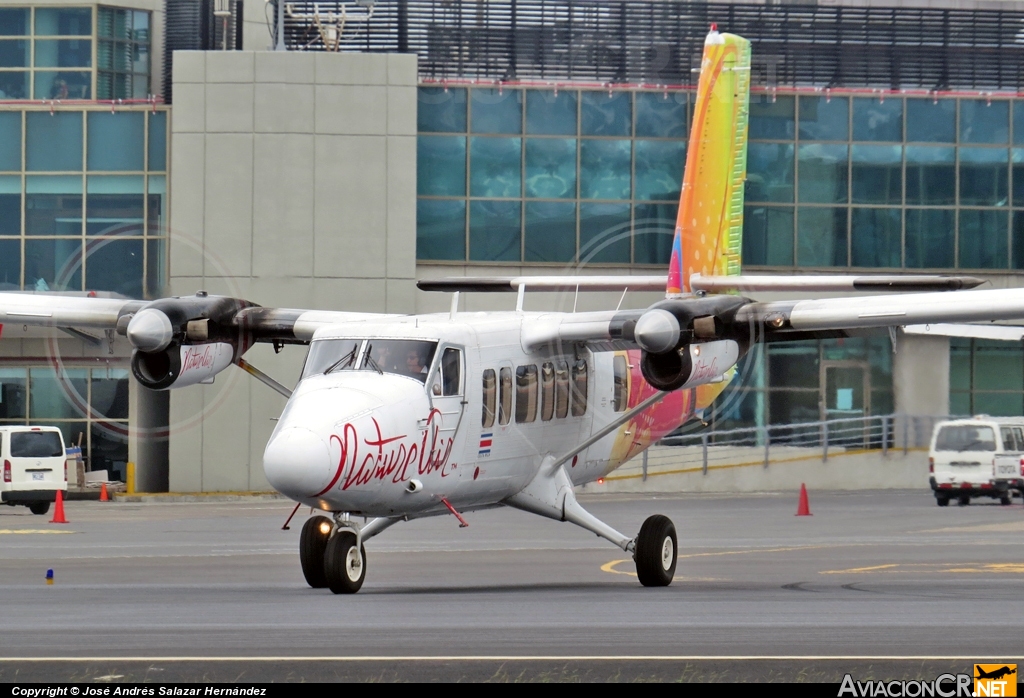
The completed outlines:
<svg viewBox="0 0 1024 698">
<path fill-rule="evenodd" d="M 927 448 L 936 423 L 945 416 L 880 415 L 851 419 L 706 431 L 662 439 L 641 456 L 648 470 L 691 472 L 720 467 L 820 460 L 840 454 Z"/>
</svg>

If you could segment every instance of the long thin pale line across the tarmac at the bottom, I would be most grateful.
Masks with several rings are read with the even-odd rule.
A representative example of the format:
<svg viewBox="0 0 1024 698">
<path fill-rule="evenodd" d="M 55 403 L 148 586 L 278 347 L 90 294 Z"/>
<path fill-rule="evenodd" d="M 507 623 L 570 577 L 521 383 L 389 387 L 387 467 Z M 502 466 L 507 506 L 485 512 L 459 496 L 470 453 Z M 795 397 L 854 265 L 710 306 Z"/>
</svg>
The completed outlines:
<svg viewBox="0 0 1024 698">
<path fill-rule="evenodd" d="M 972 661 L 972 662 L 1007 662 L 1016 661 L 1016 655 L 1005 657 L 983 657 L 972 655 L 369 655 L 366 657 L 344 656 L 276 656 L 276 657 L 0 657 L 0 663 L 11 662 L 296 662 L 296 661 L 332 661 L 332 662 L 392 662 L 392 661 Z"/>
</svg>

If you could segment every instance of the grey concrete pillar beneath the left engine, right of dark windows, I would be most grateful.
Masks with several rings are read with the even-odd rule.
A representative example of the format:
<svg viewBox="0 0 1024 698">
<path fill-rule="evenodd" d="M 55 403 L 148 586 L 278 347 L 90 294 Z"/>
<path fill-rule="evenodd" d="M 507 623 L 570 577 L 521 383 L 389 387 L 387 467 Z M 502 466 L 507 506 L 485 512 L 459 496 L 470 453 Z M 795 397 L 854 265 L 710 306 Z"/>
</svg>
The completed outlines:
<svg viewBox="0 0 1024 698">
<path fill-rule="evenodd" d="M 143 388 L 132 378 L 128 382 L 128 461 L 135 464 L 135 489 L 166 492 L 170 393 Z"/>
</svg>

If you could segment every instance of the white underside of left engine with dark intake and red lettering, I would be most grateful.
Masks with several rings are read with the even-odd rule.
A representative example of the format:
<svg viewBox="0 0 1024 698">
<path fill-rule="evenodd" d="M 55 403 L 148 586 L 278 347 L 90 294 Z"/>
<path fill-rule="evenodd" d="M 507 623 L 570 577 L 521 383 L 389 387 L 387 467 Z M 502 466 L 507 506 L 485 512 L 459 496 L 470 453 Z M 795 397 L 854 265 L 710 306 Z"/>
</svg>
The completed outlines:
<svg viewBox="0 0 1024 698">
<path fill-rule="evenodd" d="M 234 347 L 225 342 L 171 344 L 163 351 L 136 350 L 131 373 L 150 390 L 169 390 L 212 381 L 233 360 Z"/>
</svg>

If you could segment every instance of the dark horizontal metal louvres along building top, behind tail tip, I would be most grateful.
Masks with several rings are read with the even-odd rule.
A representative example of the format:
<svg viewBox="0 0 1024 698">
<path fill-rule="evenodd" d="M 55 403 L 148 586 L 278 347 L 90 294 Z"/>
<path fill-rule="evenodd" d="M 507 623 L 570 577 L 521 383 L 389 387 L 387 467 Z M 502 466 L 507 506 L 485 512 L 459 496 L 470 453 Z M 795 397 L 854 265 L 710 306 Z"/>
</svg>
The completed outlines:
<svg viewBox="0 0 1024 698">
<path fill-rule="evenodd" d="M 1024 12 L 652 0 L 294 0 L 290 50 L 415 52 L 429 79 L 689 85 L 711 23 L 753 42 L 755 85 L 1024 87 Z M 347 17 L 347 20 L 346 18 Z"/>
</svg>

